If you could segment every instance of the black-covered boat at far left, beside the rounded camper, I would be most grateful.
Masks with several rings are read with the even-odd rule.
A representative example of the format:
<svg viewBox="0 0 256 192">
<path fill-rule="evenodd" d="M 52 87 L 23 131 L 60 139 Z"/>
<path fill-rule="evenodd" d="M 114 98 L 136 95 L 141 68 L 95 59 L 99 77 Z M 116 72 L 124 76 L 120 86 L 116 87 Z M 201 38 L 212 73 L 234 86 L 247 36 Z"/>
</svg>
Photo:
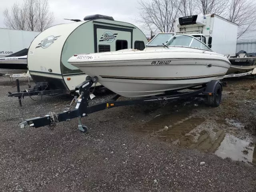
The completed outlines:
<svg viewBox="0 0 256 192">
<path fill-rule="evenodd" d="M 20 74 L 28 71 L 28 49 L 20 50 L 6 57 L 0 57 L 0 74 Z"/>
</svg>

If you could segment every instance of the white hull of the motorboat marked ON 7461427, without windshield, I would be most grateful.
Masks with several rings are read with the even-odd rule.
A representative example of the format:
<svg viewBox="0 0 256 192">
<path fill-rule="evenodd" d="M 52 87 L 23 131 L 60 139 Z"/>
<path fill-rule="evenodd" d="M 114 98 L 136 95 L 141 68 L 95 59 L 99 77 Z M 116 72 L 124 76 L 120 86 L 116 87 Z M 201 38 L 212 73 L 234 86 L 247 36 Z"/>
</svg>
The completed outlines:
<svg viewBox="0 0 256 192">
<path fill-rule="evenodd" d="M 230 67 L 224 56 L 213 59 L 212 54 L 202 57 L 202 52 L 190 53 L 190 58 L 177 55 L 178 52 L 171 52 L 164 59 L 150 58 L 148 54 L 143 59 L 129 59 L 127 55 L 121 60 L 97 60 L 95 54 L 94 61 L 70 58 L 68 62 L 90 77 L 97 76 L 100 84 L 127 98 L 154 96 L 220 80 Z"/>
</svg>

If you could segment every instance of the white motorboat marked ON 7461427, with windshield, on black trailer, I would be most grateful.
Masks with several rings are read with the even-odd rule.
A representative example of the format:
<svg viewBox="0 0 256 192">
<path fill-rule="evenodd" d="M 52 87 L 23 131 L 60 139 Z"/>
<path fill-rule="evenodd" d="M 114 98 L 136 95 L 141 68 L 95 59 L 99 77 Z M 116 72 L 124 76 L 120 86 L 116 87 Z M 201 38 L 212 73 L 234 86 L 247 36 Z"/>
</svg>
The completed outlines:
<svg viewBox="0 0 256 192">
<path fill-rule="evenodd" d="M 175 33 L 156 35 L 142 51 L 75 54 L 68 62 L 127 98 L 164 94 L 220 80 L 230 68 L 224 55 L 212 52 L 193 36 Z"/>
</svg>

